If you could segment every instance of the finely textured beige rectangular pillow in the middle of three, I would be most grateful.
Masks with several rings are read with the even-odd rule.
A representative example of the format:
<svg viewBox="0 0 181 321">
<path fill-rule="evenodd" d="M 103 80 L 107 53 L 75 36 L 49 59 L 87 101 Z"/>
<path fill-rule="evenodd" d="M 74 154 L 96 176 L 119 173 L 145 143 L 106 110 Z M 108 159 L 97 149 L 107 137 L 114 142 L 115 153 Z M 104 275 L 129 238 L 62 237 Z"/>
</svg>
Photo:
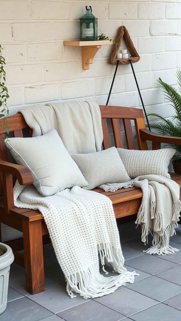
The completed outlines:
<svg viewBox="0 0 181 321">
<path fill-rule="evenodd" d="M 71 157 L 89 183 L 88 186 L 83 187 L 85 189 L 93 189 L 105 183 L 121 183 L 130 180 L 115 147 L 100 152 L 73 154 Z"/>
</svg>

